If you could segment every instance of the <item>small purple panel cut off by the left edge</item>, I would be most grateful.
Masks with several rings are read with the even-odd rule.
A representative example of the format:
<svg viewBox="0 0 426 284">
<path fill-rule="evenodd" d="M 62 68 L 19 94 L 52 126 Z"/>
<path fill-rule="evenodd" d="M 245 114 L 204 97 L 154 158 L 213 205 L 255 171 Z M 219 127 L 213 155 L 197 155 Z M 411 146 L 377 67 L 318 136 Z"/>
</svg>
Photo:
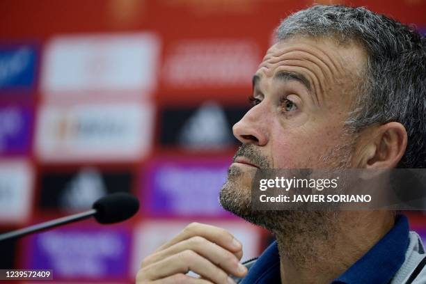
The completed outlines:
<svg viewBox="0 0 426 284">
<path fill-rule="evenodd" d="M 28 107 L 0 107 L 0 153 L 29 152 L 32 124 L 33 111 Z"/>
</svg>

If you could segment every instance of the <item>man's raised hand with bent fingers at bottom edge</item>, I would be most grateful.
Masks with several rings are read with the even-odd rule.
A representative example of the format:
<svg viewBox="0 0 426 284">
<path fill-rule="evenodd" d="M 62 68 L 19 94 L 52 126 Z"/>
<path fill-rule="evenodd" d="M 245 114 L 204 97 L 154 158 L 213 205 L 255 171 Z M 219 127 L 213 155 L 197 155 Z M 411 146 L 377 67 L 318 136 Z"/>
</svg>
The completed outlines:
<svg viewBox="0 0 426 284">
<path fill-rule="evenodd" d="M 143 260 L 136 283 L 235 283 L 228 275 L 247 273 L 241 258 L 242 244 L 228 231 L 191 223 Z M 201 278 L 186 275 L 188 271 Z"/>
</svg>

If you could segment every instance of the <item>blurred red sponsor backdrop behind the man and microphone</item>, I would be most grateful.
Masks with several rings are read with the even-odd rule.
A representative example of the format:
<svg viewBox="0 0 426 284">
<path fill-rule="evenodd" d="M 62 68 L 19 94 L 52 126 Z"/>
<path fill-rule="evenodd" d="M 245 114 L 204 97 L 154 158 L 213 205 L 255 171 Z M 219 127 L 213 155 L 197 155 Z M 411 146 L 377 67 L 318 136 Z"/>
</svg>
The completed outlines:
<svg viewBox="0 0 426 284">
<path fill-rule="evenodd" d="M 313 1 L 0 1 L 0 232 L 86 210 L 117 191 L 129 221 L 84 221 L 0 244 L 0 268 L 55 283 L 134 283 L 145 255 L 191 221 L 258 255 L 271 235 L 217 201 L 251 77 L 286 15 Z M 426 31 L 424 0 L 367 6 Z M 426 217 L 408 213 L 426 239 Z M 34 282 L 31 282 L 34 283 Z"/>
</svg>

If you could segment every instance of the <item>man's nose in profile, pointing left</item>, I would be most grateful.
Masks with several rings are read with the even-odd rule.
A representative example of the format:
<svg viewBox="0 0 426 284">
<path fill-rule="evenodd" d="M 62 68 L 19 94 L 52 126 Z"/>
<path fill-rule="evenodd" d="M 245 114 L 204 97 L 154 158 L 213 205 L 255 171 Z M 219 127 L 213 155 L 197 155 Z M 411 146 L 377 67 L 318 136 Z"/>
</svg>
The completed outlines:
<svg viewBox="0 0 426 284">
<path fill-rule="evenodd" d="M 251 108 L 238 123 L 232 127 L 234 136 L 243 144 L 252 143 L 264 146 L 268 142 L 267 120 L 265 119 L 265 109 L 260 104 Z"/>
</svg>

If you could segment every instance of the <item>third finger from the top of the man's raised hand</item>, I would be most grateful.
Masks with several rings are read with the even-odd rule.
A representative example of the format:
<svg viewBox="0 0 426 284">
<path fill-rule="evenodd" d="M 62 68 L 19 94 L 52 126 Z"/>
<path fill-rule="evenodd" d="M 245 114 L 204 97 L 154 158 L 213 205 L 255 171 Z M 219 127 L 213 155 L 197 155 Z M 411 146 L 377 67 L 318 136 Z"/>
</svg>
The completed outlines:
<svg viewBox="0 0 426 284">
<path fill-rule="evenodd" d="M 194 271 L 202 276 L 203 280 L 213 283 L 232 283 L 225 271 L 191 250 L 182 251 L 144 267 L 139 271 L 138 277 L 139 281 L 156 281 L 168 276 L 187 274 L 188 271 Z"/>
</svg>

